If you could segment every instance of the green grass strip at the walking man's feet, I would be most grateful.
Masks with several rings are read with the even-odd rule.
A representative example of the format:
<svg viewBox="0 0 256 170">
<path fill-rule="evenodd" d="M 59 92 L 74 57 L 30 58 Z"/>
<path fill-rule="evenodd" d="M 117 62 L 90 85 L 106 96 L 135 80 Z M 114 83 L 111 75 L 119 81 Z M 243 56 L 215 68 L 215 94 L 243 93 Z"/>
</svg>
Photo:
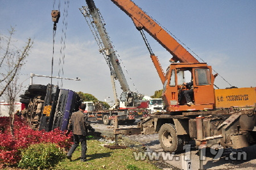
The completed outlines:
<svg viewBox="0 0 256 170">
<path fill-rule="evenodd" d="M 150 161 L 135 160 L 130 148 L 110 150 L 103 146 L 104 143 L 96 139 L 87 140 L 87 161 L 81 162 L 81 147 L 77 147 L 72 155 L 72 161 L 64 159 L 56 169 L 159 169 Z"/>
</svg>

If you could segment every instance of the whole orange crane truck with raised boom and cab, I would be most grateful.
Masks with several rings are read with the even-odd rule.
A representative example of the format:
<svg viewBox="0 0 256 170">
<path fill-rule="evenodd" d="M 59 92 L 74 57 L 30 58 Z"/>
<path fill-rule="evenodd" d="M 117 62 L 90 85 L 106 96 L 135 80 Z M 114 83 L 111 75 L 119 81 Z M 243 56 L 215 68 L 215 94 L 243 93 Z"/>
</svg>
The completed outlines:
<svg viewBox="0 0 256 170">
<path fill-rule="evenodd" d="M 130 0 L 111 0 L 133 20 L 141 32 L 160 81 L 166 113 L 156 113 L 139 122 L 142 134 L 159 134 L 164 151 L 182 150 L 194 139 L 196 146 L 213 144 L 227 148 L 247 147 L 256 142 L 256 88 L 214 89 L 212 67 L 200 63 L 154 19 Z M 148 44 L 144 31 L 172 55 L 166 73 Z M 192 105 L 179 96 L 185 90 L 184 72 L 193 78 Z M 237 77 L 236 77 L 237 78 Z"/>
</svg>

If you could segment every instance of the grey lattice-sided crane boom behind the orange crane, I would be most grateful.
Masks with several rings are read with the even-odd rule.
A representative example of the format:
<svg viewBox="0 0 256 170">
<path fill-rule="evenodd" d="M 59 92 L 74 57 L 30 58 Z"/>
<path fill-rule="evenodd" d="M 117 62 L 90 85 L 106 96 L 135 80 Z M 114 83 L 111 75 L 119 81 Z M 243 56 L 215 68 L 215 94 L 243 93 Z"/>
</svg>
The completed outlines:
<svg viewBox="0 0 256 170">
<path fill-rule="evenodd" d="M 97 9 L 93 0 L 86 0 L 86 3 L 88 6 L 83 6 L 80 11 L 91 28 L 94 38 L 100 47 L 100 52 L 104 55 L 104 58 L 109 66 L 115 98 L 115 105 L 113 108 L 119 107 L 119 109 L 126 110 L 147 107 L 146 105 L 142 106 L 144 102 L 141 100 L 143 95 L 136 92 L 131 92 L 129 85 L 127 84 L 125 74 L 123 74 L 121 64 L 119 63 L 117 54 L 114 50 L 114 46 L 112 45 L 108 32 L 106 31 L 104 19 L 100 14 L 100 10 Z M 114 80 L 119 81 L 121 89 L 123 90 L 120 101 L 117 98 Z"/>
</svg>

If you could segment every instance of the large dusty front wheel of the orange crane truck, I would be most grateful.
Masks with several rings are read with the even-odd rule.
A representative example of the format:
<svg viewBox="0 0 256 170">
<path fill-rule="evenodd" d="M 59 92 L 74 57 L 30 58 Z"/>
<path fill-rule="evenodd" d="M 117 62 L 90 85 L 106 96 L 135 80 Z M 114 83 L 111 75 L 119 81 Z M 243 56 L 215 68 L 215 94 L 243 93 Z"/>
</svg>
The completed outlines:
<svg viewBox="0 0 256 170">
<path fill-rule="evenodd" d="M 165 123 L 158 132 L 159 142 L 166 152 L 180 152 L 183 150 L 184 142 L 182 136 L 177 135 L 175 126 Z"/>
</svg>

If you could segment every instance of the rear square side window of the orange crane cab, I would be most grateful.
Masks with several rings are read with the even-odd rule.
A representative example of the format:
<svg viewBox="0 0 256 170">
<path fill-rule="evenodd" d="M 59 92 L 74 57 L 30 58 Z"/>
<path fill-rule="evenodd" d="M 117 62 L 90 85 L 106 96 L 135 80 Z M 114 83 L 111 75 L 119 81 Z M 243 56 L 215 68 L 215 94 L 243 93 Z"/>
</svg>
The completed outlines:
<svg viewBox="0 0 256 170">
<path fill-rule="evenodd" d="M 195 69 L 195 81 L 198 86 L 210 85 L 210 70 L 208 68 Z"/>
</svg>

